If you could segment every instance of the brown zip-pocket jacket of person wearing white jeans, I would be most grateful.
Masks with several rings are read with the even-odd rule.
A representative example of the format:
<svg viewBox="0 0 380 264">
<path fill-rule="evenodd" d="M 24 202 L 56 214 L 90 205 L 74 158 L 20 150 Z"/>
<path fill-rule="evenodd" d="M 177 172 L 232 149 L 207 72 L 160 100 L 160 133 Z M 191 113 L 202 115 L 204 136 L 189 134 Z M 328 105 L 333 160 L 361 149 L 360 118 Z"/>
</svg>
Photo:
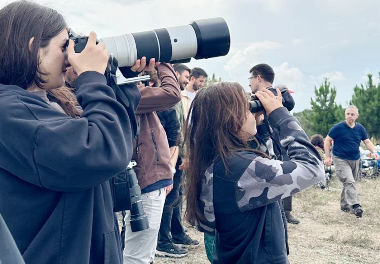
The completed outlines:
<svg viewBox="0 0 380 264">
<path fill-rule="evenodd" d="M 140 134 L 133 142 L 132 160 L 137 162 L 134 169 L 141 190 L 158 181 L 172 178 L 169 144 L 156 111 L 164 111 L 181 101 L 181 90 L 171 64 L 161 63 L 158 74 L 160 87 L 139 87 L 141 101 L 136 117 L 140 120 Z"/>
</svg>

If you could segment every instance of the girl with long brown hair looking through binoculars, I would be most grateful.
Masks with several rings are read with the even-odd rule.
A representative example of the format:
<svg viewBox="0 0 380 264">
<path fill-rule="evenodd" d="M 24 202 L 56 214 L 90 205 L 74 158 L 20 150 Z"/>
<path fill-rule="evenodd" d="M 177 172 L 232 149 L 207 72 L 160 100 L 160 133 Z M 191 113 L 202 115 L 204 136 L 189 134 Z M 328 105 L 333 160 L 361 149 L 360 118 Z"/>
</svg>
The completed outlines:
<svg viewBox="0 0 380 264">
<path fill-rule="evenodd" d="M 213 263 L 288 263 L 279 201 L 324 176 L 318 151 L 277 93 L 276 98 L 265 89 L 256 95 L 289 161 L 272 160 L 258 150 L 269 135 L 265 124 L 257 127 L 261 115 L 250 112 L 238 83 L 201 89 L 191 105 L 191 121 L 185 122 L 185 216 L 202 232 L 216 235 Z"/>
</svg>

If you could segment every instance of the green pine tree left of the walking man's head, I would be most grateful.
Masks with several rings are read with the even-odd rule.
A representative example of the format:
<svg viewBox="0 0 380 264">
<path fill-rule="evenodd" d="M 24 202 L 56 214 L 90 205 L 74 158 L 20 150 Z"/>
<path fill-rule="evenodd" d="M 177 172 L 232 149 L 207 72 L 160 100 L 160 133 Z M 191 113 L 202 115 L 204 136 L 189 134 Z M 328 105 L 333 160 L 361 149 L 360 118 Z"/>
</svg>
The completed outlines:
<svg viewBox="0 0 380 264">
<path fill-rule="evenodd" d="M 344 118 L 345 110 L 335 103 L 336 88 L 330 86 L 328 78 L 319 88 L 315 87 L 315 99 L 311 98 L 312 111 L 304 113 L 306 127 L 315 134 L 327 136 L 330 128 Z"/>
</svg>

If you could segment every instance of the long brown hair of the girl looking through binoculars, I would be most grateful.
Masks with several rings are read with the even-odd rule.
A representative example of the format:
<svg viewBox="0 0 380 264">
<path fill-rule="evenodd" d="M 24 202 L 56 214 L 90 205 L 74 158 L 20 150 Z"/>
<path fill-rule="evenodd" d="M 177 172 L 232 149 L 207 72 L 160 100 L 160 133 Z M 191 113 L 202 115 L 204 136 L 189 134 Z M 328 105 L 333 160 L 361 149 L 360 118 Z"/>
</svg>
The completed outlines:
<svg viewBox="0 0 380 264">
<path fill-rule="evenodd" d="M 198 207 L 201 179 L 216 157 L 221 158 L 226 169 L 229 156 L 240 150 L 251 150 L 267 157 L 250 149 L 250 142 L 239 137 L 248 111 L 246 92 L 236 82 L 220 82 L 202 88 L 195 96 L 189 110 L 191 115 L 187 116 L 184 125 L 189 162 L 186 169 L 187 221 L 194 223 L 204 219 Z"/>
</svg>

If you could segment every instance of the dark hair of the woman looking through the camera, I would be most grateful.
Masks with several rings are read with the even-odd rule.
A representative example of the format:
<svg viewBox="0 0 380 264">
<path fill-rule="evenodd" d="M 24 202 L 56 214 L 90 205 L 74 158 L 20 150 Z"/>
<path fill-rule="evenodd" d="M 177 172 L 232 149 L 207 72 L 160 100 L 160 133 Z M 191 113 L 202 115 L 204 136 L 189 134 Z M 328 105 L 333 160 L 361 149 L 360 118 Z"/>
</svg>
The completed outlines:
<svg viewBox="0 0 380 264">
<path fill-rule="evenodd" d="M 67 28 L 57 11 L 28 2 L 13 2 L 0 10 L 0 83 L 27 89 L 45 83 L 39 70 L 39 48 Z M 29 40 L 34 37 L 29 51 Z"/>
</svg>

